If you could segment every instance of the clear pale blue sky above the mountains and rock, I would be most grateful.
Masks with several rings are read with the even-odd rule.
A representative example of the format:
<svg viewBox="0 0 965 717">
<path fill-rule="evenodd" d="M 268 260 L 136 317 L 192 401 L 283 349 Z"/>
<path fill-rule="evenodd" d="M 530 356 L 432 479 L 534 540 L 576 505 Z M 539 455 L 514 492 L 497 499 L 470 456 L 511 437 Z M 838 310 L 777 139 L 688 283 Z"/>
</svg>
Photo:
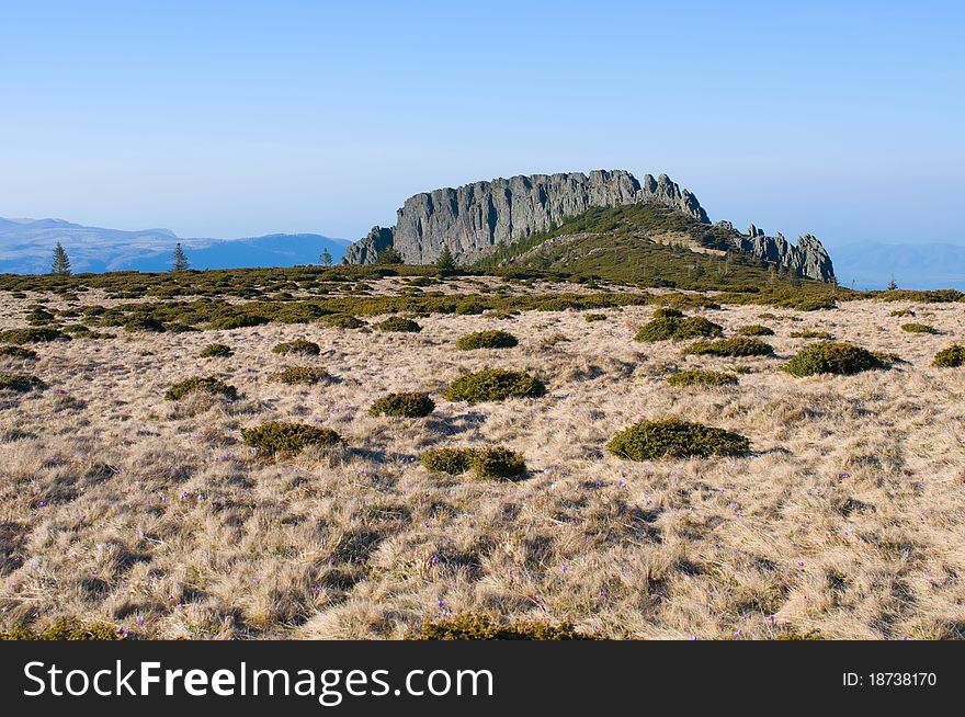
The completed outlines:
<svg viewBox="0 0 965 717">
<path fill-rule="evenodd" d="M 355 239 L 666 172 L 712 219 L 965 242 L 962 2 L 4 2 L 0 216 Z"/>
</svg>

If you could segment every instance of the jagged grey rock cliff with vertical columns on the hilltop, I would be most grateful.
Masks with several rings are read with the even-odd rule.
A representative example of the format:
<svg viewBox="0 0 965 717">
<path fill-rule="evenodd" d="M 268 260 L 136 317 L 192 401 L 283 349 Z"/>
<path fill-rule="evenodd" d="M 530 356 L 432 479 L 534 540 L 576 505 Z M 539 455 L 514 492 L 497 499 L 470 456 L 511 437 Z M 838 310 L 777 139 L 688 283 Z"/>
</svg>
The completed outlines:
<svg viewBox="0 0 965 717">
<path fill-rule="evenodd" d="M 709 225 L 697 198 L 666 174 L 638 181 L 625 170 L 533 174 L 476 182 L 409 197 L 393 228 L 373 227 L 349 247 L 347 264 L 374 263 L 393 247 L 406 263 L 429 264 L 449 246 L 456 262 L 472 263 L 501 244 L 545 231 L 592 207 L 652 203 Z M 718 223 L 716 226 L 723 226 Z M 801 276 L 831 281 L 833 270 L 821 243 L 810 235 L 797 246 L 781 235 L 767 237 L 753 227 L 740 235 L 729 224 L 727 241 L 739 251 L 774 262 Z"/>
</svg>

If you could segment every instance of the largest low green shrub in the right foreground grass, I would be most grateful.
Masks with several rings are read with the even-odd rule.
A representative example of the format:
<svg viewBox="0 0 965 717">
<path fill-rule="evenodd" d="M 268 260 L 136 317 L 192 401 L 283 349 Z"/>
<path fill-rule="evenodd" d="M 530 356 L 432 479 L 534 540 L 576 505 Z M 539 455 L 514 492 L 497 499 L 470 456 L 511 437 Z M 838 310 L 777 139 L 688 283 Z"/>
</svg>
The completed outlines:
<svg viewBox="0 0 965 717">
<path fill-rule="evenodd" d="M 617 433 L 606 449 L 618 458 L 651 460 L 691 456 L 746 456 L 750 441 L 724 429 L 677 419 L 642 421 Z"/>
</svg>

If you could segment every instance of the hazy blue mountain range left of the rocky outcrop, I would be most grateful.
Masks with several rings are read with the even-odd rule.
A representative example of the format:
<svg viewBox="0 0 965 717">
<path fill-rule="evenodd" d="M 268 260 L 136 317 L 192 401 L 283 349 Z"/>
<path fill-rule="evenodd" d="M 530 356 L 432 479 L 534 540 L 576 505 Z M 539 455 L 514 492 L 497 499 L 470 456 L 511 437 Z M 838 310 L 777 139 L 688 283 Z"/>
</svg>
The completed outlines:
<svg viewBox="0 0 965 717">
<path fill-rule="evenodd" d="M 39 274 L 50 269 L 50 252 L 64 244 L 75 272 L 167 271 L 181 242 L 192 269 L 294 266 L 317 264 L 322 249 L 341 260 L 345 239 L 316 234 L 276 234 L 242 239 L 179 238 L 169 229 L 122 231 L 86 227 L 63 219 L 0 218 L 0 273 Z"/>
</svg>

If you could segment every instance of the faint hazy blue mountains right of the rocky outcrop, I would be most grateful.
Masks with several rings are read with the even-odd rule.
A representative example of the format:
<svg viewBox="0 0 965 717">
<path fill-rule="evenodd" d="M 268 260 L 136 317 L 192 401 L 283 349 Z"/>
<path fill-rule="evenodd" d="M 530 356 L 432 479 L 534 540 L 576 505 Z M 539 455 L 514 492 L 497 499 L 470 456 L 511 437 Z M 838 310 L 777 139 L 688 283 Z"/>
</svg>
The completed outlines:
<svg viewBox="0 0 965 717">
<path fill-rule="evenodd" d="M 894 276 L 899 288 L 965 291 L 963 244 L 861 242 L 835 247 L 831 259 L 841 286 L 885 288 Z"/>
</svg>

